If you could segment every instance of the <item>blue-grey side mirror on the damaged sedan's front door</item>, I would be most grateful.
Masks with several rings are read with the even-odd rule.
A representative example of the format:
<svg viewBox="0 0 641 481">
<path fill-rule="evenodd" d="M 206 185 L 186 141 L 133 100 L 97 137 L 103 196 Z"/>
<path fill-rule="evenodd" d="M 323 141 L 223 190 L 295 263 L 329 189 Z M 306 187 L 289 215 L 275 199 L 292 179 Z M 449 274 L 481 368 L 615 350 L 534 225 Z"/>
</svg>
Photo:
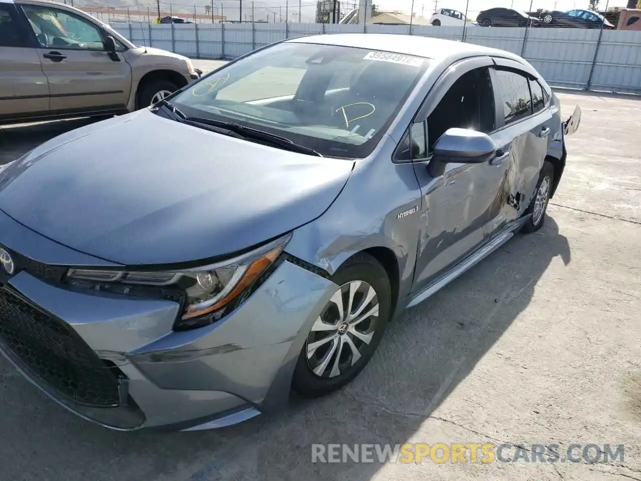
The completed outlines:
<svg viewBox="0 0 641 481">
<path fill-rule="evenodd" d="M 486 133 L 451 128 L 438 138 L 432 159 L 444 164 L 481 164 L 494 158 L 496 151 L 494 140 Z"/>
</svg>

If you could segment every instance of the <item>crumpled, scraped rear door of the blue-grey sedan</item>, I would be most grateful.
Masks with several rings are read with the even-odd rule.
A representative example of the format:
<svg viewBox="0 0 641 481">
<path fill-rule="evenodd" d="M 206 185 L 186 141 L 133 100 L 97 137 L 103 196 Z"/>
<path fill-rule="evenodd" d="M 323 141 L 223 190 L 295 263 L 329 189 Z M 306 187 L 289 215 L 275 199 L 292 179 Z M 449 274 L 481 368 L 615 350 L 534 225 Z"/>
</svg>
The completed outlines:
<svg viewBox="0 0 641 481">
<path fill-rule="evenodd" d="M 528 208 L 534 194 L 550 133 L 552 114 L 536 79 L 519 63 L 495 59 L 491 69 L 497 99 L 497 125 L 491 137 L 498 146 L 492 162 L 491 233 L 501 230 Z M 531 93 L 534 90 L 534 95 Z"/>
</svg>

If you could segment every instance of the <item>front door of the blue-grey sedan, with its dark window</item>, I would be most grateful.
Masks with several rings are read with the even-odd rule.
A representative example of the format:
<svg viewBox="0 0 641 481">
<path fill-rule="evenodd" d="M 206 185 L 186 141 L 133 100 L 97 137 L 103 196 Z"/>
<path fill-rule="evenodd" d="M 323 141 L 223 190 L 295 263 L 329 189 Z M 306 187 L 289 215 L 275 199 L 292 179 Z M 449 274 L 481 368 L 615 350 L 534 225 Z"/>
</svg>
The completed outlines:
<svg viewBox="0 0 641 481">
<path fill-rule="evenodd" d="M 438 165 L 429 154 L 449 128 L 490 133 L 494 94 L 487 67 L 463 73 L 428 115 L 428 160 L 415 162 L 422 194 L 422 229 L 414 288 L 420 290 L 487 239 L 492 168 L 483 164 Z"/>
</svg>

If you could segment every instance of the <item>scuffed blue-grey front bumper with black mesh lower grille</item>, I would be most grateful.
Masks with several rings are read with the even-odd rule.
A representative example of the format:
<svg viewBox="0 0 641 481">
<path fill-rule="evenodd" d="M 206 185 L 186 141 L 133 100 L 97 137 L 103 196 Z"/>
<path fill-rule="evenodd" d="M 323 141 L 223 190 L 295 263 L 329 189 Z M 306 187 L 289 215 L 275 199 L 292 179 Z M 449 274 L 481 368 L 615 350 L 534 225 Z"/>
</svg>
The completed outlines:
<svg viewBox="0 0 641 481">
<path fill-rule="evenodd" d="M 0 213 L 0 243 L 23 258 L 20 236 L 4 235 L 9 223 Z M 173 332 L 172 301 L 72 291 L 29 262 L 0 277 L 0 351 L 49 397 L 117 430 L 212 428 L 287 405 L 306 333 L 333 291 L 326 278 L 281 258 L 219 323 Z"/>
</svg>

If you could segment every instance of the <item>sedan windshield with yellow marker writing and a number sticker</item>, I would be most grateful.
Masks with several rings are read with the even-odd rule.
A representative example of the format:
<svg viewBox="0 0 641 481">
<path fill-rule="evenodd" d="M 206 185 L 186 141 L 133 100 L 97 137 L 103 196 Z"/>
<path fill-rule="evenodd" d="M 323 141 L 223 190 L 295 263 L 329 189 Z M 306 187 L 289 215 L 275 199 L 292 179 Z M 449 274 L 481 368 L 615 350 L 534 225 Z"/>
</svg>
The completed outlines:
<svg viewBox="0 0 641 481">
<path fill-rule="evenodd" d="M 287 137 L 324 156 L 369 155 L 428 61 L 287 42 L 231 63 L 171 101 L 186 115 Z"/>
</svg>

